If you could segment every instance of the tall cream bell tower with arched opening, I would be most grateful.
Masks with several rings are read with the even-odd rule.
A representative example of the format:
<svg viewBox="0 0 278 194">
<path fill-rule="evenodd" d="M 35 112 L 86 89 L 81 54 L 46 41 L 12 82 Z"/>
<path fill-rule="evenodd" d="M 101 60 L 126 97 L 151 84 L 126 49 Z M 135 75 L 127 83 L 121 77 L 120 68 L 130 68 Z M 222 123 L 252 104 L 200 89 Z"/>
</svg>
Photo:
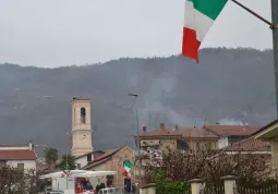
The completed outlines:
<svg viewBox="0 0 278 194">
<path fill-rule="evenodd" d="M 93 151 L 90 99 L 73 97 L 72 101 L 72 155 L 77 157 Z"/>
</svg>

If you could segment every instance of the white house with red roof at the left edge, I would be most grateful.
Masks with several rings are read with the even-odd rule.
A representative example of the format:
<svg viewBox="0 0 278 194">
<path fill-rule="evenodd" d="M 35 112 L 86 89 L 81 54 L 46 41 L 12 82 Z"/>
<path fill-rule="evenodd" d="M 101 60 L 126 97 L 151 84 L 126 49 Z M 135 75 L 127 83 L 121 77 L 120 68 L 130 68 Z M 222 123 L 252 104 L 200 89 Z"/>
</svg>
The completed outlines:
<svg viewBox="0 0 278 194">
<path fill-rule="evenodd" d="M 29 143 L 23 146 L 0 145 L 0 163 L 5 163 L 19 170 L 36 170 L 36 153 Z"/>
</svg>

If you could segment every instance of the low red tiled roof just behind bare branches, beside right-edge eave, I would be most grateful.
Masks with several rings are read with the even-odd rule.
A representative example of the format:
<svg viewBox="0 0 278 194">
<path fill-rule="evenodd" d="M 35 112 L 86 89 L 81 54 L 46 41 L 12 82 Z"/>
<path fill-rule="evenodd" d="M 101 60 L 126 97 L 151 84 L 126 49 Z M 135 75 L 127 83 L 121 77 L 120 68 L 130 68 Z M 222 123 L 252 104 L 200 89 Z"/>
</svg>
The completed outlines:
<svg viewBox="0 0 278 194">
<path fill-rule="evenodd" d="M 226 151 L 271 151 L 268 143 L 253 137 L 234 143 L 223 149 Z"/>
</svg>

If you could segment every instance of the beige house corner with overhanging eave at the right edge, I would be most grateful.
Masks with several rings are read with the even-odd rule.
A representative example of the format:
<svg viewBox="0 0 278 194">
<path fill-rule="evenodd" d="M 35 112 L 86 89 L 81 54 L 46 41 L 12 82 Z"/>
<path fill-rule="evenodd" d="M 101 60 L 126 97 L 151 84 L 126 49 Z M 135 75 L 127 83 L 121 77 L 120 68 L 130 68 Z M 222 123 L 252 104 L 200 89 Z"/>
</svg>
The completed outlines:
<svg viewBox="0 0 278 194">
<path fill-rule="evenodd" d="M 273 121 L 253 134 L 254 138 L 268 142 L 271 146 L 273 169 L 278 169 L 278 120 Z"/>
</svg>

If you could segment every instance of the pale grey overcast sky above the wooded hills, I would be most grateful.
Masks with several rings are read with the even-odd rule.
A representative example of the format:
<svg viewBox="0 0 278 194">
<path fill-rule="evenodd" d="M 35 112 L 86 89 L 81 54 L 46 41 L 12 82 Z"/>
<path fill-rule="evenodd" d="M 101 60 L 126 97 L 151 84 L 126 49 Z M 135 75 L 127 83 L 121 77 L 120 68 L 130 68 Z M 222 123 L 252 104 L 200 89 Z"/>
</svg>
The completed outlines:
<svg viewBox="0 0 278 194">
<path fill-rule="evenodd" d="M 270 20 L 270 0 L 239 0 Z M 0 0 L 0 63 L 61 66 L 181 52 L 183 0 Z M 271 48 L 271 32 L 232 2 L 202 47 Z"/>
</svg>

